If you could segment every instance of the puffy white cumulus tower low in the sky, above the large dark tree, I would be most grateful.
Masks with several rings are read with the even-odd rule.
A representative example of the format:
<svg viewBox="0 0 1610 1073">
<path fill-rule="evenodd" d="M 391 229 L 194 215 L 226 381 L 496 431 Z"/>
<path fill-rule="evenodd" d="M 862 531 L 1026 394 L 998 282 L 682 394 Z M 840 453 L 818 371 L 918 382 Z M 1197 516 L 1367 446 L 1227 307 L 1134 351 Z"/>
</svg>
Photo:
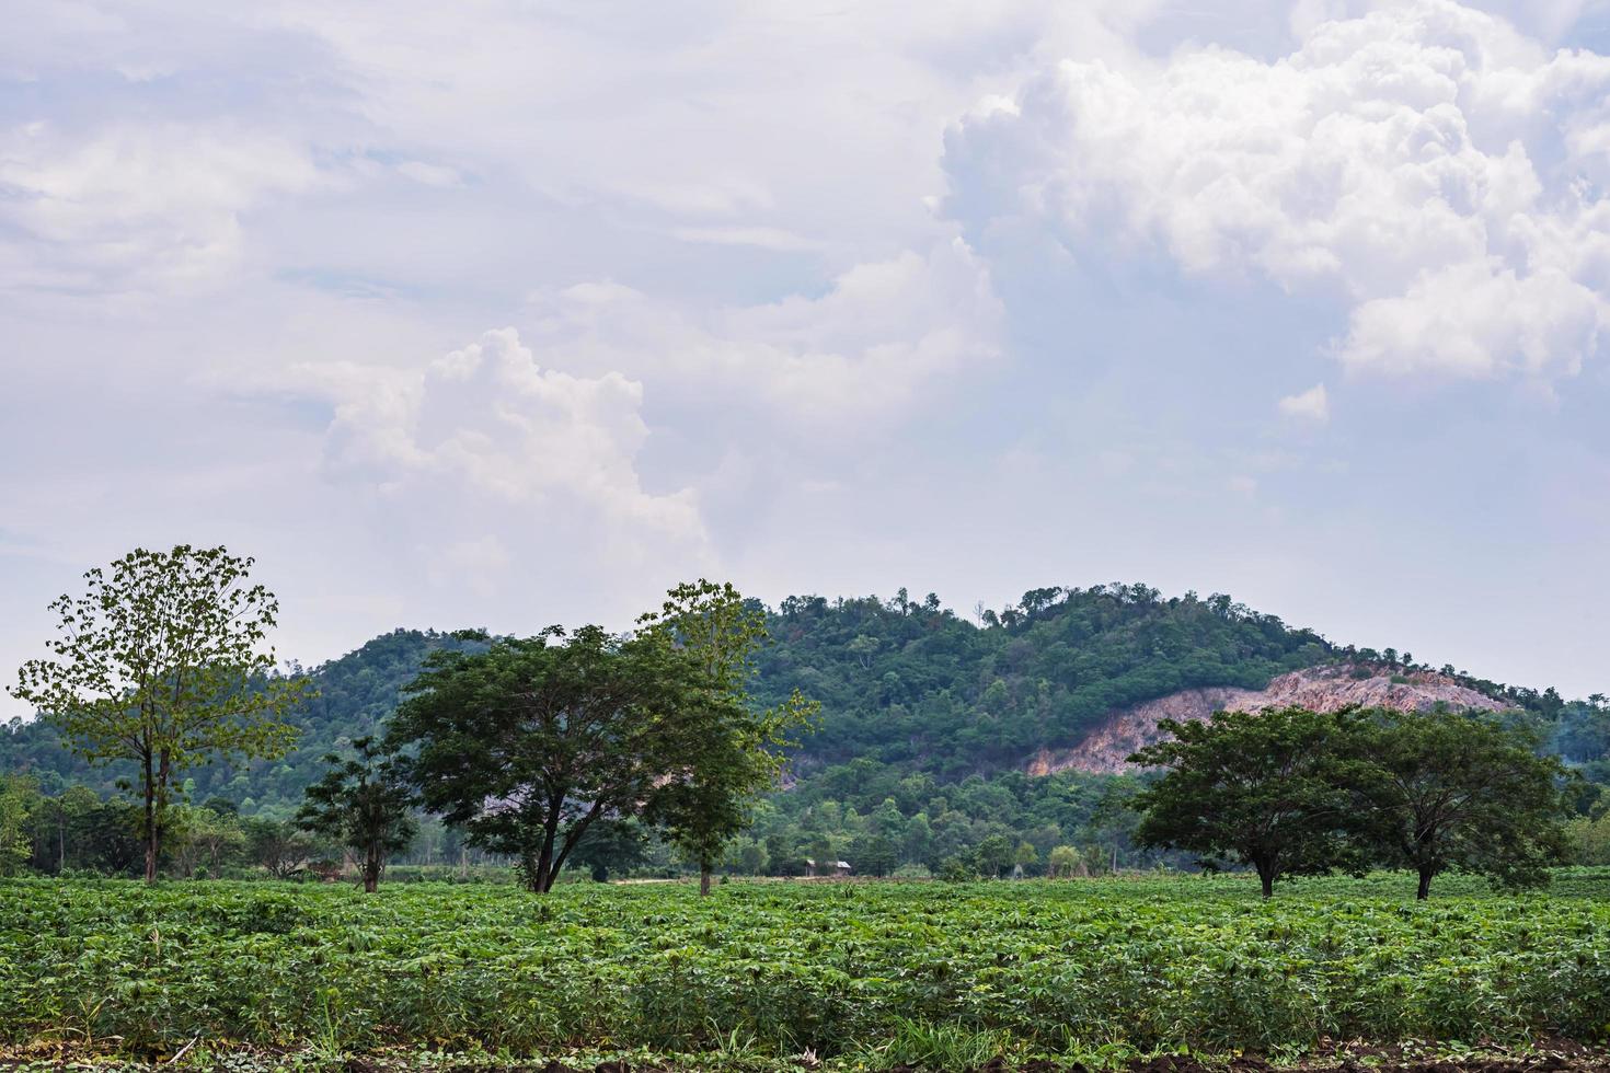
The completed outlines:
<svg viewBox="0 0 1610 1073">
<path fill-rule="evenodd" d="M 464 499 L 480 500 L 481 516 L 581 508 L 613 532 L 704 541 L 692 492 L 652 494 L 639 479 L 642 384 L 541 368 L 514 328 L 422 370 L 341 364 L 303 367 L 298 378 L 333 404 L 325 470 L 336 479 L 423 508 Z"/>
</svg>

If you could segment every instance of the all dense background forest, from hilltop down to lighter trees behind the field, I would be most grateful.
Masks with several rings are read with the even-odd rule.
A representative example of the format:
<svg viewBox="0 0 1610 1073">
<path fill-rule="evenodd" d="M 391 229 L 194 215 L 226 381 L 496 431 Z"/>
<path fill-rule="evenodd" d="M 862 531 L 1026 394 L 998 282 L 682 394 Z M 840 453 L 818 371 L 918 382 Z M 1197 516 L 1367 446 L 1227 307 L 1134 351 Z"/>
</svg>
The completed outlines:
<svg viewBox="0 0 1610 1073">
<path fill-rule="evenodd" d="M 1394 650 L 1341 648 L 1227 595 L 1162 597 L 1146 586 L 1035 589 L 977 621 L 937 595 L 789 597 L 766 610 L 771 643 L 753 695 L 791 690 L 821 701 L 791 763 L 789 790 L 757 811 L 734 859 L 745 870 L 803 867 L 824 854 L 860 870 L 937 867 L 974 854 L 984 870 L 1043 862 L 1075 846 L 1092 864 L 1143 862 L 1121 808 L 1133 779 L 1022 774 L 1040 746 L 1075 743 L 1116 708 L 1182 689 L 1261 689 L 1282 672 L 1340 660 L 1410 664 Z M 311 671 L 319 697 L 295 714 L 291 753 L 190 772 L 190 801 L 227 800 L 243 816 L 288 817 L 319 759 L 377 730 L 425 655 L 462 647 L 449 634 L 394 631 Z M 1610 782 L 1610 709 L 1455 672 L 1539 722 L 1554 750 Z M 132 771 L 89 767 L 56 732 L 14 721 L 0 734 L 0 772 L 29 772 L 45 793 L 85 785 L 113 796 Z M 980 856 L 982 854 L 982 856 Z M 652 854 L 650 854 L 652 857 Z"/>
</svg>

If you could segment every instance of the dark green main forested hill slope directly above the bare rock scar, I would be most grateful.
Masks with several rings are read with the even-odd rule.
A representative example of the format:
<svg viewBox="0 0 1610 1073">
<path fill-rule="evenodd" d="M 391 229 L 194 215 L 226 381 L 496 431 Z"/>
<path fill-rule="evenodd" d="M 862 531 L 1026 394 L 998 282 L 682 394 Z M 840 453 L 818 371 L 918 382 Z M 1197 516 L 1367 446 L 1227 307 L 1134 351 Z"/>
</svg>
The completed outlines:
<svg viewBox="0 0 1610 1073">
<path fill-rule="evenodd" d="M 1146 586 L 1035 589 L 980 619 L 932 594 L 792 597 L 771 616 L 758 692 L 821 701 L 807 769 L 866 756 L 952 780 L 1072 743 L 1125 705 L 1195 685 L 1259 689 L 1335 655 L 1230 597 L 1164 600 Z"/>
</svg>

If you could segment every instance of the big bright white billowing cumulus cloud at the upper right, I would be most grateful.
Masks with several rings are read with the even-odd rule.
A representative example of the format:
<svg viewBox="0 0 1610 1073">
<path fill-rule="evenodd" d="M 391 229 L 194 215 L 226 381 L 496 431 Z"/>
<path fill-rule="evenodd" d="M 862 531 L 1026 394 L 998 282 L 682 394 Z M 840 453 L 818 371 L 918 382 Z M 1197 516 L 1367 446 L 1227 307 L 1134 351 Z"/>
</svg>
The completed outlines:
<svg viewBox="0 0 1610 1073">
<path fill-rule="evenodd" d="M 947 209 L 1335 291 L 1351 370 L 1575 373 L 1610 327 L 1610 58 L 1447 0 L 1299 23 L 1274 63 L 1037 76 L 953 129 Z"/>
</svg>

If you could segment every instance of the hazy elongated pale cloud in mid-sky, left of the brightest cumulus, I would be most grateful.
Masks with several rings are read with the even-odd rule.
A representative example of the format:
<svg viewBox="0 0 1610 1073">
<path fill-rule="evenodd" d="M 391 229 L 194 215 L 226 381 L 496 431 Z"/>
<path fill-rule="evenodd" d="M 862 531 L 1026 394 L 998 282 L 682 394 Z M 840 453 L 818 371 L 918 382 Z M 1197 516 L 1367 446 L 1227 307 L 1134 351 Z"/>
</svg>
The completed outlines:
<svg viewBox="0 0 1610 1073">
<path fill-rule="evenodd" d="M 807 426 L 894 417 L 1000 356 L 1000 302 L 960 240 L 855 265 L 821 296 L 692 312 L 613 283 L 536 298 L 544 352 Z"/>
</svg>

